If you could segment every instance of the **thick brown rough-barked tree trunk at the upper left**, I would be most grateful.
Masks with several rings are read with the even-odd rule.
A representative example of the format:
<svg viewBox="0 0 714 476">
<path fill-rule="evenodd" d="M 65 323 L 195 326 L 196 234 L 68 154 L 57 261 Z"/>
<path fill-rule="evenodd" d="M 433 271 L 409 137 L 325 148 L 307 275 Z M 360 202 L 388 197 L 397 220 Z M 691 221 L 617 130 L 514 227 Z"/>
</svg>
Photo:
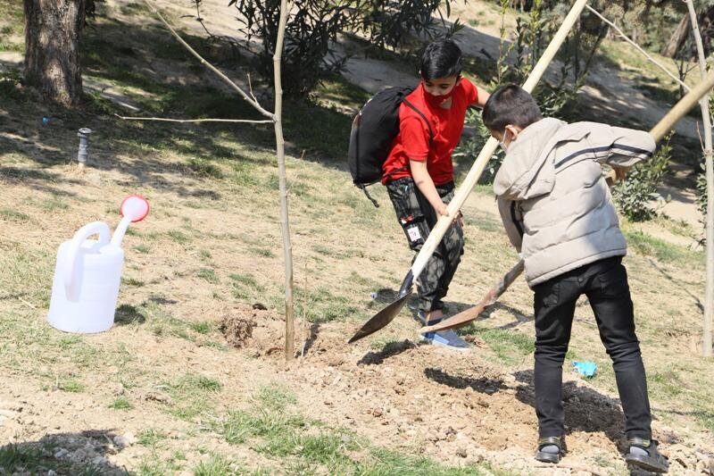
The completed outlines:
<svg viewBox="0 0 714 476">
<path fill-rule="evenodd" d="M 25 80 L 54 102 L 79 104 L 79 36 L 85 0 L 24 0 L 24 4 Z"/>
</svg>

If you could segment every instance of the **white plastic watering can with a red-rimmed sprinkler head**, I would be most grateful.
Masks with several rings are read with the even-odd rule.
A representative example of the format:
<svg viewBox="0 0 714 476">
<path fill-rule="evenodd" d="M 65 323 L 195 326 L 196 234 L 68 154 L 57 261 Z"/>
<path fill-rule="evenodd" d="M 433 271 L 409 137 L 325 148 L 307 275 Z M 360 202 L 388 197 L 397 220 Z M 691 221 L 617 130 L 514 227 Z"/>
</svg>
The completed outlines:
<svg viewBox="0 0 714 476">
<path fill-rule="evenodd" d="M 143 196 L 130 195 L 121 202 L 120 213 L 124 218 L 111 240 L 109 225 L 93 221 L 57 251 L 47 315 L 55 329 L 88 334 L 112 327 L 124 263 L 121 240 L 129 223 L 144 220 L 149 204 Z M 99 239 L 89 239 L 93 235 Z"/>
</svg>

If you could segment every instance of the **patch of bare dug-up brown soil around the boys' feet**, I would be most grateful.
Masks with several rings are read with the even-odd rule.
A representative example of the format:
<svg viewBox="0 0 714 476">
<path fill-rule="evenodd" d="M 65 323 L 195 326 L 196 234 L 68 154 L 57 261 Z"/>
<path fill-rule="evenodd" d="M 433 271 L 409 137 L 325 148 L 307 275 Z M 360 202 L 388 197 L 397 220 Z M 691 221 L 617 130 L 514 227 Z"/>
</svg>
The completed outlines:
<svg viewBox="0 0 714 476">
<path fill-rule="evenodd" d="M 563 386 L 569 455 L 558 467 L 539 465 L 533 460 L 537 427 L 530 362 L 503 372 L 482 358 L 477 338 L 466 354 L 413 339 L 378 350 L 363 342 L 346 346 L 353 329 L 330 323 L 313 325 L 298 350 L 303 356 L 285 365 L 281 349 L 273 347 L 283 335 L 283 320 L 269 312 L 243 313 L 257 322 L 245 353 L 269 357 L 281 379 L 302 388 L 305 412 L 359 430 L 374 443 L 450 464 L 487 461 L 531 474 L 605 474 L 597 462 L 612 460 L 627 445 L 619 400 L 573 371 L 565 372 Z M 654 438 L 670 456 L 671 473 L 714 471 L 714 439 L 685 442 L 681 431 L 656 422 L 654 428 Z M 610 470 L 625 471 L 624 464 L 614 464 Z"/>
</svg>

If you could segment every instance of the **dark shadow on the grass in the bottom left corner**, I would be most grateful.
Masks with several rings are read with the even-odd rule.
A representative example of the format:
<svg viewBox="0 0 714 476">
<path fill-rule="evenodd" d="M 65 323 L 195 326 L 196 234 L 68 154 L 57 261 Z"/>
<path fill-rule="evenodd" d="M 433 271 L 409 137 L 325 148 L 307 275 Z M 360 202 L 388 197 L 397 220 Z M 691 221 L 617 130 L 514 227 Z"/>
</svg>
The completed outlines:
<svg viewBox="0 0 714 476">
<path fill-rule="evenodd" d="M 107 459 L 123 448 L 112 430 L 47 434 L 37 441 L 0 447 L 0 469 L 7 474 L 58 475 L 103 474 L 123 476 L 129 472 Z M 117 441 L 115 442 L 115 438 Z"/>
</svg>

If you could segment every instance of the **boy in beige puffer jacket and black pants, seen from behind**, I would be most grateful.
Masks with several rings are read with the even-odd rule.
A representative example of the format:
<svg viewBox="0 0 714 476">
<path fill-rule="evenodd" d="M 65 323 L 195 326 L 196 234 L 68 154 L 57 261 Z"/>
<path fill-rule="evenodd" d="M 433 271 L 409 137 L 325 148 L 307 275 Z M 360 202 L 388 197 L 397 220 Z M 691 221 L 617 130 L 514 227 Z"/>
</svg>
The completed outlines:
<svg viewBox="0 0 714 476">
<path fill-rule="evenodd" d="M 535 459 L 560 461 L 562 363 L 577 298 L 585 294 L 615 371 L 627 463 L 667 472 L 668 462 L 652 440 L 647 381 L 621 263 L 627 244 L 601 168 L 608 163 L 623 171 L 650 158 L 654 139 L 640 130 L 543 118 L 533 97 L 515 85 L 491 95 L 483 119 L 506 150 L 494 192 L 535 292 Z"/>
</svg>

